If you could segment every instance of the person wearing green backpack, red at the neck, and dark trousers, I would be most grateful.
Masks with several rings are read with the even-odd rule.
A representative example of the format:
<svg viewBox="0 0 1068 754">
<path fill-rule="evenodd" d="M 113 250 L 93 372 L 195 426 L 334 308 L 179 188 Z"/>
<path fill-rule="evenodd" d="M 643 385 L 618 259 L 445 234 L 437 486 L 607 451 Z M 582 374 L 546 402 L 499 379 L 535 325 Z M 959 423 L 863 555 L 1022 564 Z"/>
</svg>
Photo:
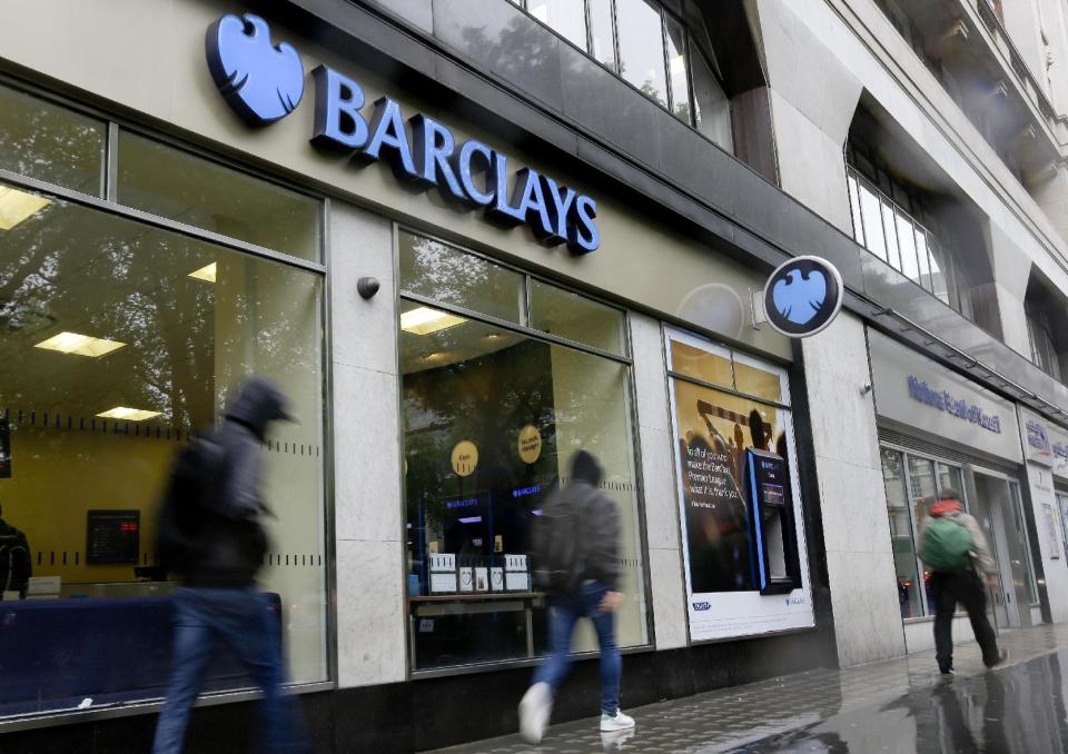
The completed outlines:
<svg viewBox="0 0 1068 754">
<path fill-rule="evenodd" d="M 926 512 L 923 508 L 928 507 Z M 996 586 L 998 567 L 990 555 L 979 523 L 961 510 L 956 489 L 942 489 L 938 499 L 917 504 L 920 558 L 931 571 L 934 608 L 934 657 L 943 675 L 953 672 L 953 614 L 963 605 L 971 629 L 982 649 L 982 662 L 993 667 L 1005 662 L 998 639 L 987 619 L 986 585 Z M 986 584 L 983 584 L 983 579 Z"/>
</svg>

